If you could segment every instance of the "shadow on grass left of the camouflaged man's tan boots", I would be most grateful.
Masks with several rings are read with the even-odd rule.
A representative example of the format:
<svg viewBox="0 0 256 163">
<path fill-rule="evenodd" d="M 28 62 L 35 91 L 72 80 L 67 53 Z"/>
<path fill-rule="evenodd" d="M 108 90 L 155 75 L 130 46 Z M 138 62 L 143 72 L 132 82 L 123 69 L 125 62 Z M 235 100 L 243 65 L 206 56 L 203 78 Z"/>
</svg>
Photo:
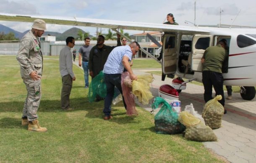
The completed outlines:
<svg viewBox="0 0 256 163">
<path fill-rule="evenodd" d="M 6 128 L 26 128 L 27 126 L 21 126 L 21 118 L 1 118 L 0 119 L 0 128 L 6 129 Z"/>
</svg>

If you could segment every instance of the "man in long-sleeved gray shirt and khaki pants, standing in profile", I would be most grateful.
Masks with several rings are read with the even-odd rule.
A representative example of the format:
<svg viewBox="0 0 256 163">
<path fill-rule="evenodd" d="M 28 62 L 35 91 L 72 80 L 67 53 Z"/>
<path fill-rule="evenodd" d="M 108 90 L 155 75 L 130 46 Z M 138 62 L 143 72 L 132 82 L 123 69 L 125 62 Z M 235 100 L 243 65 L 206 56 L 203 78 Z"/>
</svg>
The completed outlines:
<svg viewBox="0 0 256 163">
<path fill-rule="evenodd" d="M 75 45 L 75 39 L 73 37 L 67 37 L 66 45 L 67 46 L 60 50 L 60 75 L 62 77 L 61 108 L 64 110 L 72 110 L 70 108 L 69 96 L 73 81 L 76 80 L 76 77 L 72 67 L 71 48 Z"/>
</svg>

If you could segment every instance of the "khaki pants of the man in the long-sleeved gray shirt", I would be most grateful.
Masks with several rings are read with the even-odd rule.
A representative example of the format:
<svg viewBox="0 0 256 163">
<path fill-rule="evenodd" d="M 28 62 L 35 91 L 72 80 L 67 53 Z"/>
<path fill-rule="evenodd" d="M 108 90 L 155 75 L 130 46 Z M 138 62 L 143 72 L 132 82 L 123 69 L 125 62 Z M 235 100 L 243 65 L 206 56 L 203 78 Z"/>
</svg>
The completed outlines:
<svg viewBox="0 0 256 163">
<path fill-rule="evenodd" d="M 61 108 L 68 109 L 70 107 L 69 96 L 72 89 L 72 77 L 71 75 L 65 75 L 62 77 L 62 89 L 61 89 Z"/>
</svg>

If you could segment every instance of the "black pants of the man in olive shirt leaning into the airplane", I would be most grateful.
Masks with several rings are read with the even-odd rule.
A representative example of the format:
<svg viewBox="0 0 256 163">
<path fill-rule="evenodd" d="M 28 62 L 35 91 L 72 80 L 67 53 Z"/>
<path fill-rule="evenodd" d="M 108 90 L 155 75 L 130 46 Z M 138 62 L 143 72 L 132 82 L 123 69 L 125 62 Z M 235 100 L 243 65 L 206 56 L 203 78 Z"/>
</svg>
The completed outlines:
<svg viewBox="0 0 256 163">
<path fill-rule="evenodd" d="M 213 71 L 203 71 L 203 84 L 204 84 L 204 101 L 207 102 L 212 99 L 212 86 L 216 95 L 221 95 L 222 99 L 219 103 L 225 105 L 224 91 L 223 91 L 223 76 L 222 73 Z"/>
</svg>

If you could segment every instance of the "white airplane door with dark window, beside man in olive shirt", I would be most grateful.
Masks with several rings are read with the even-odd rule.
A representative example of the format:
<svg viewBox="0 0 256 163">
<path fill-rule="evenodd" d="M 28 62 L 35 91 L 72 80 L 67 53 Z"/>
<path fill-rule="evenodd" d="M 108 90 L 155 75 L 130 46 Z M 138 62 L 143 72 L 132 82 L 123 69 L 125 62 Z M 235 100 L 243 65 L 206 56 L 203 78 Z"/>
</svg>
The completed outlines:
<svg viewBox="0 0 256 163">
<path fill-rule="evenodd" d="M 201 59 L 207 47 L 212 46 L 212 35 L 194 35 L 192 40 L 191 69 L 202 72 Z"/>
</svg>

